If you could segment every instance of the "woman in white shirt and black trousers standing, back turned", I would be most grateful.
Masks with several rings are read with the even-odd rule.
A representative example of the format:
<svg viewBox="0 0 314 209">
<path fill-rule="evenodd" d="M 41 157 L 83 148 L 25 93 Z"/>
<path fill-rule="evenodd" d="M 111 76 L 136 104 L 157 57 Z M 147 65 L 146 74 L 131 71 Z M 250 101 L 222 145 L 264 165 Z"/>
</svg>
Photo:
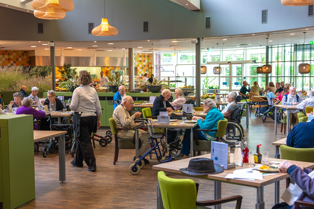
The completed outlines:
<svg viewBox="0 0 314 209">
<path fill-rule="evenodd" d="M 71 165 L 83 167 L 83 160 L 89 171 L 96 171 L 96 159 L 90 135 L 100 128 L 101 107 L 97 92 L 88 84 L 93 81 L 87 71 L 80 71 L 78 82 L 81 84 L 73 91 L 70 109 L 74 111 L 73 125 L 78 137 L 77 151 Z"/>
</svg>

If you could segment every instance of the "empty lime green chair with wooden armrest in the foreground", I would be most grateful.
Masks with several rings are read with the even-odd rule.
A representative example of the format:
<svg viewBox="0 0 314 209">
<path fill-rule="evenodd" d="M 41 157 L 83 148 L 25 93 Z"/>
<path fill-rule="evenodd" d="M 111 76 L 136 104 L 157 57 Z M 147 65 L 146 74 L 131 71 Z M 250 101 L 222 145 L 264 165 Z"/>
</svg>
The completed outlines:
<svg viewBox="0 0 314 209">
<path fill-rule="evenodd" d="M 197 188 L 192 179 L 172 179 L 167 177 L 164 171 L 159 171 L 157 176 L 165 209 L 208 209 L 205 206 L 214 206 L 231 201 L 237 201 L 236 209 L 241 208 L 242 196 L 240 195 L 220 200 L 197 201 Z"/>
</svg>

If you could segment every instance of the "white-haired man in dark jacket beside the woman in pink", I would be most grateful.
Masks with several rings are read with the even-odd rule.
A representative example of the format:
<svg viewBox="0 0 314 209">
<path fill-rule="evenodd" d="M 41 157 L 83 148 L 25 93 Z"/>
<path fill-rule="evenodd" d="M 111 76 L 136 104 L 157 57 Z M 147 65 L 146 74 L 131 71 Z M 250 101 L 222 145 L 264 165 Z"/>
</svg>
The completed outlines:
<svg viewBox="0 0 314 209">
<path fill-rule="evenodd" d="M 160 96 L 154 101 L 152 116 L 158 116 L 159 112 L 171 112 L 172 110 L 175 110 L 170 102 L 167 101 L 170 97 L 171 91 L 169 89 L 161 91 Z"/>
</svg>

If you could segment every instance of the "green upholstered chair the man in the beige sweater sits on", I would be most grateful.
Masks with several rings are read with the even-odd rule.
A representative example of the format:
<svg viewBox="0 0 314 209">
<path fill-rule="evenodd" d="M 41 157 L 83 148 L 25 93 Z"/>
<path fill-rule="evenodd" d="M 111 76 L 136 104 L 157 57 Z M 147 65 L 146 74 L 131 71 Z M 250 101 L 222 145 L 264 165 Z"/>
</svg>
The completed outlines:
<svg viewBox="0 0 314 209">
<path fill-rule="evenodd" d="M 115 136 L 115 156 L 113 159 L 113 165 L 116 165 L 116 161 L 118 161 L 119 149 L 135 149 L 135 144 L 133 144 L 133 138 L 118 138 L 116 121 L 113 118 L 109 118 L 109 124 L 111 133 Z M 133 128 L 119 128 L 118 130 L 131 129 L 134 130 Z"/>
</svg>

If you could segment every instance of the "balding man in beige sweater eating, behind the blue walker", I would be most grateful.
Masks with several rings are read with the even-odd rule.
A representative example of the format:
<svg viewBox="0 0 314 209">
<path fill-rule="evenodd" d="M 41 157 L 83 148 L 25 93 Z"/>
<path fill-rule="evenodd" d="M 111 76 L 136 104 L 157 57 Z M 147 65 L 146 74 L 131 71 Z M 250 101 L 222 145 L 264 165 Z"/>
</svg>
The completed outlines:
<svg viewBox="0 0 314 209">
<path fill-rule="evenodd" d="M 132 116 L 130 116 L 129 112 L 133 107 L 133 99 L 131 96 L 123 97 L 121 104 L 116 107 L 113 111 L 113 119 L 116 122 L 116 128 L 133 128 L 134 127 L 134 119 L 139 117 L 142 113 L 135 112 Z M 141 140 L 142 145 L 139 149 L 140 157 L 145 154 L 150 149 L 149 137 L 150 135 L 141 129 L 138 129 L 138 138 Z M 119 138 L 133 138 L 135 133 L 134 130 L 122 130 L 118 132 Z M 135 157 L 134 157 L 135 160 Z M 145 164 L 149 164 L 149 161 L 144 158 Z"/>
</svg>

